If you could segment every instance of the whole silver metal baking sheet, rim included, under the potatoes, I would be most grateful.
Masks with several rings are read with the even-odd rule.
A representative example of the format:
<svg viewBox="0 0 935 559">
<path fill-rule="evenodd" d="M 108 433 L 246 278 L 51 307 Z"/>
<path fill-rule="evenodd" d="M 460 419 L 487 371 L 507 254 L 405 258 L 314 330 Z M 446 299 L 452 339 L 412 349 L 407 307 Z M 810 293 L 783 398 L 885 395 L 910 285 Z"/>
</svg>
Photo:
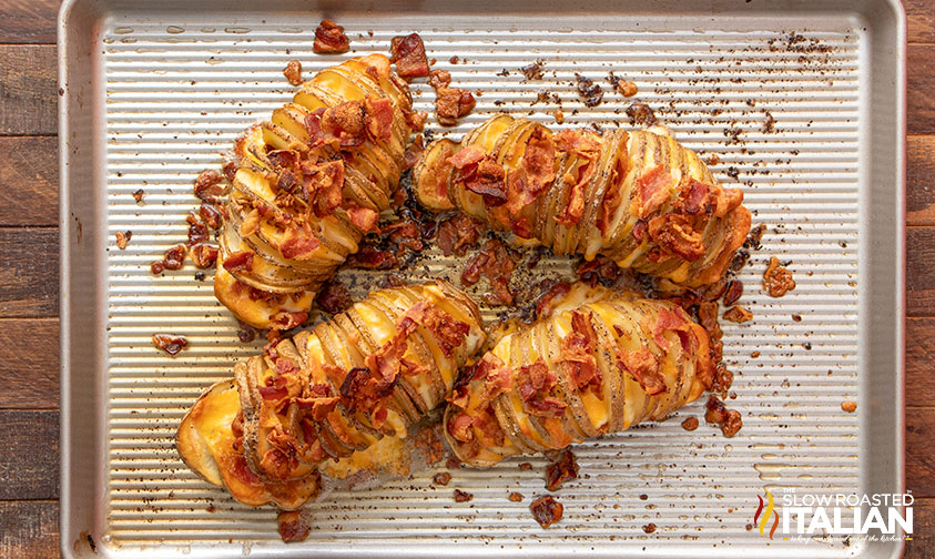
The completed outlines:
<svg viewBox="0 0 935 559">
<path fill-rule="evenodd" d="M 581 478 L 558 495 L 565 518 L 543 530 L 528 505 L 542 459 L 520 471 L 431 472 L 309 506 L 314 529 L 284 545 L 275 514 L 200 481 L 172 436 L 184 410 L 232 362 L 254 353 L 191 266 L 149 264 L 185 237 L 191 185 L 244 128 L 291 98 L 282 75 L 343 57 L 312 52 L 328 17 L 347 57 L 385 52 L 417 31 L 436 68 L 478 92 L 459 136 L 496 111 L 555 125 L 628 126 L 609 71 L 638 84 L 685 145 L 739 183 L 763 250 L 742 280 L 746 325 L 725 323 L 735 373 L 732 438 L 682 418 L 576 449 Z M 898 492 L 903 481 L 904 18 L 895 1 L 691 2 L 67 1 L 60 19 L 62 164 L 62 517 L 65 556 L 156 557 L 892 557 L 900 543 L 770 541 L 754 529 L 764 488 Z M 449 59 L 460 58 L 451 64 Z M 520 67 L 542 60 L 545 78 Z M 604 88 L 586 108 L 575 74 Z M 434 93 L 414 84 L 416 106 Z M 431 112 L 431 111 L 430 111 Z M 770 115 L 773 130 L 765 125 Z M 443 130 L 434 120 L 428 126 Z M 145 192 L 142 204 L 132 193 Z M 132 231 L 125 251 L 114 234 Z M 797 287 L 772 299 L 759 283 L 771 255 Z M 543 264 L 561 267 L 562 262 Z M 435 260 L 427 275 L 457 276 Z M 424 277 L 416 271 L 413 276 Z M 802 316 L 793 322 L 792 315 Z M 170 358 L 156 332 L 185 335 Z M 754 352 L 759 357 L 754 358 Z M 842 411 L 844 400 L 858 404 Z M 454 488 L 472 492 L 456 504 Z M 507 499 L 520 491 L 520 504 Z M 646 496 L 641 499 L 640 496 Z M 649 522 L 658 529 L 646 533 Z M 92 549 L 93 542 L 93 549 Z"/>
</svg>

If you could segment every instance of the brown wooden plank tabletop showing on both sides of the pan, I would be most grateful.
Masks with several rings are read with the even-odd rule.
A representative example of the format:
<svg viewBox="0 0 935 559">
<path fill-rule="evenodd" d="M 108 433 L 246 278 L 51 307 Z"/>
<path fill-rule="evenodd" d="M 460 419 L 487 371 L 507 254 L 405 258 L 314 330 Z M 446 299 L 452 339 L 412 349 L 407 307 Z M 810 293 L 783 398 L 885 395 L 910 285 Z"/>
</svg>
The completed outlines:
<svg viewBox="0 0 935 559">
<path fill-rule="evenodd" d="M 935 557 L 935 0 L 906 0 L 905 557 Z M 59 555 L 59 0 L 0 2 L 0 557 Z"/>
</svg>

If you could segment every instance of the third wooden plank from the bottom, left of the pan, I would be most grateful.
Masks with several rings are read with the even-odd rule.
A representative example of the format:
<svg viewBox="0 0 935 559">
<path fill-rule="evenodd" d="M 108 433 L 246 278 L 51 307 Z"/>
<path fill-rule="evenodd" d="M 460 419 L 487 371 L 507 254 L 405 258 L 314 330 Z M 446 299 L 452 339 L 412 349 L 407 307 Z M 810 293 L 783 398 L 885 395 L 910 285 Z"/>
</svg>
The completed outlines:
<svg viewBox="0 0 935 559">
<path fill-rule="evenodd" d="M 58 318 L 0 319 L 0 409 L 59 407 Z"/>
</svg>

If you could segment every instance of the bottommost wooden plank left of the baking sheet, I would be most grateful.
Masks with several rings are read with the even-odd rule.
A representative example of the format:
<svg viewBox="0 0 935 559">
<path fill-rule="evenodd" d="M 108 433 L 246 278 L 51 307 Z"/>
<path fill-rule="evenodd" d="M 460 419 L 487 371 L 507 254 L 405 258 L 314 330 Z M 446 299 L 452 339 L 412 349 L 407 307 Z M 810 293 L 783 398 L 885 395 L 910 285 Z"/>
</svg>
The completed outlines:
<svg viewBox="0 0 935 559">
<path fill-rule="evenodd" d="M 59 557 L 57 501 L 0 501 L 0 557 Z"/>
</svg>

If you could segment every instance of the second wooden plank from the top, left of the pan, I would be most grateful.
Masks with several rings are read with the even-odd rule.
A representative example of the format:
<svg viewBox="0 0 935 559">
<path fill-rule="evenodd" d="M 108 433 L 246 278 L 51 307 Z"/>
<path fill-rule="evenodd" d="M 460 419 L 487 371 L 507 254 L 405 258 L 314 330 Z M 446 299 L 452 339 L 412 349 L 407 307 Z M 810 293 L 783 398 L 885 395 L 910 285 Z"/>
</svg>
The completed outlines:
<svg viewBox="0 0 935 559">
<path fill-rule="evenodd" d="M 55 47 L 0 44 L 0 135 L 58 130 Z"/>
</svg>

